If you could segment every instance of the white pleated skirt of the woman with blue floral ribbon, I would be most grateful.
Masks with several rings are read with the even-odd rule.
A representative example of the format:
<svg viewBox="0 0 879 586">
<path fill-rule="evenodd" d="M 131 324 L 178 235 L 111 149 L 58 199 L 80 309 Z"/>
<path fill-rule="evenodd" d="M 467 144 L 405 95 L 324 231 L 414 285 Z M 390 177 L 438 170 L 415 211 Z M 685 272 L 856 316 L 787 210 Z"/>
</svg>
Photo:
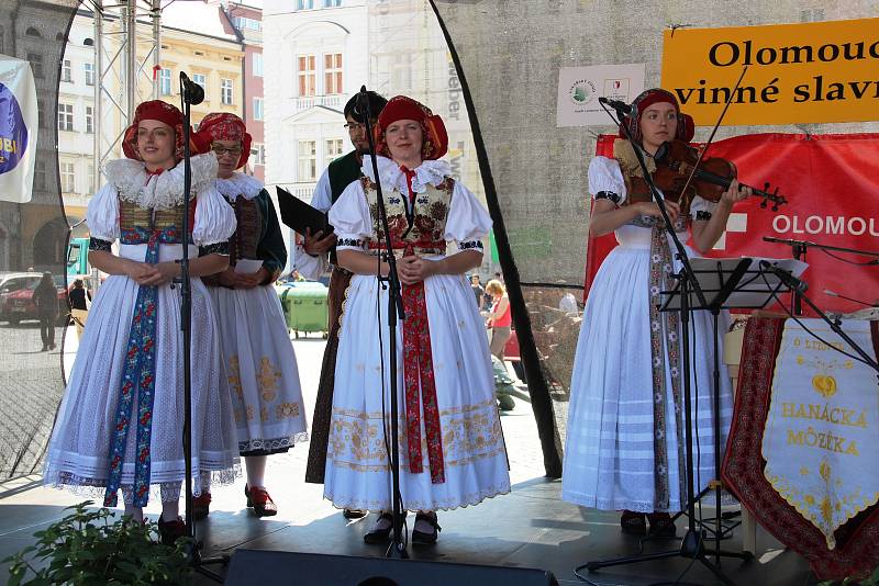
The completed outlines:
<svg viewBox="0 0 879 586">
<path fill-rule="evenodd" d="M 180 258 L 179 245 L 159 245 L 159 260 Z M 145 258 L 146 245 L 122 245 L 120 255 Z M 190 255 L 198 253 L 190 247 Z M 102 496 L 109 477 L 110 442 L 138 285 L 126 275 L 111 275 L 89 312 L 49 441 L 44 483 Z M 185 480 L 183 354 L 180 289 L 158 290 L 156 311 L 156 377 L 151 435 L 151 496 L 158 484 Z M 216 316 L 207 288 L 192 279 L 192 480 L 200 494 L 202 474 L 215 483 L 234 481 L 237 440 L 232 401 L 224 384 L 216 335 Z M 134 409 L 137 397 L 134 397 Z M 135 417 L 136 417 L 136 410 Z M 127 433 L 122 484 L 134 481 L 136 426 Z M 211 474 L 213 473 L 213 474 Z M 155 491 L 154 491 L 155 489 Z"/>
</svg>

